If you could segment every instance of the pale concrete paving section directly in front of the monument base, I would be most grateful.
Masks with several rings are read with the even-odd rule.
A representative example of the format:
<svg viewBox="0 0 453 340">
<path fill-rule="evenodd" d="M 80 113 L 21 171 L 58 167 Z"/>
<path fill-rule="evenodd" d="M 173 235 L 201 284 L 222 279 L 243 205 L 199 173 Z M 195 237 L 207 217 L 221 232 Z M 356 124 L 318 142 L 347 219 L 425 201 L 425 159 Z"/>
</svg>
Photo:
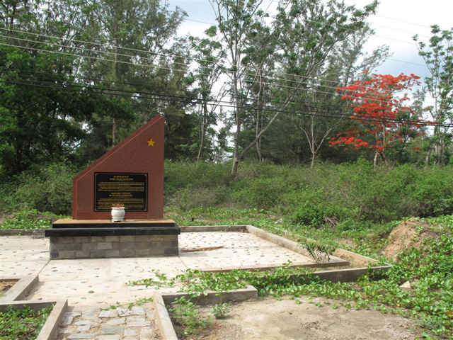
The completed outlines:
<svg viewBox="0 0 453 340">
<path fill-rule="evenodd" d="M 40 273 L 40 283 L 28 300 L 57 295 L 69 305 L 105 307 L 150 297 L 154 287 L 127 285 L 130 280 L 152 278 L 152 270 L 173 277 L 185 271 L 176 256 L 159 258 L 52 260 Z M 165 291 L 174 288 L 164 288 Z"/>
</svg>

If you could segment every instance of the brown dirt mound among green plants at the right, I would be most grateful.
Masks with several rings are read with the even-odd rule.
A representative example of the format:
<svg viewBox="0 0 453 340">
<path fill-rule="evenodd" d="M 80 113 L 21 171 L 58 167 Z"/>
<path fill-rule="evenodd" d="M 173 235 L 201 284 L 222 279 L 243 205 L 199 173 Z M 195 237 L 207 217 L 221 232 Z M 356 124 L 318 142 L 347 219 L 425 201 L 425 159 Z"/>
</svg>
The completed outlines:
<svg viewBox="0 0 453 340">
<path fill-rule="evenodd" d="M 421 230 L 419 232 L 419 230 Z M 384 247 L 386 257 L 398 261 L 398 254 L 409 247 L 419 247 L 423 239 L 437 237 L 432 225 L 419 220 L 401 222 L 389 234 L 389 243 Z"/>
</svg>

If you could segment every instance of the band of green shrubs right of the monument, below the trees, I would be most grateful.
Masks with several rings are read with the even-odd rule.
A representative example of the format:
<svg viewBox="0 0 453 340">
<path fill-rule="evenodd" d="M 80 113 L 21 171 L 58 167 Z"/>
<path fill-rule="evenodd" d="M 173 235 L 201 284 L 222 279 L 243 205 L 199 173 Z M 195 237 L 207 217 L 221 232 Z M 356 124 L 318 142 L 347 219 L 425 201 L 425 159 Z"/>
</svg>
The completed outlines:
<svg viewBox="0 0 453 340">
<path fill-rule="evenodd" d="M 182 210 L 213 206 L 270 210 L 302 225 L 321 225 L 326 217 L 336 222 L 389 222 L 451 214 L 451 173 L 450 166 L 374 168 L 363 159 L 313 169 L 243 162 L 231 181 L 229 164 L 167 162 L 165 198 L 166 205 Z"/>
</svg>

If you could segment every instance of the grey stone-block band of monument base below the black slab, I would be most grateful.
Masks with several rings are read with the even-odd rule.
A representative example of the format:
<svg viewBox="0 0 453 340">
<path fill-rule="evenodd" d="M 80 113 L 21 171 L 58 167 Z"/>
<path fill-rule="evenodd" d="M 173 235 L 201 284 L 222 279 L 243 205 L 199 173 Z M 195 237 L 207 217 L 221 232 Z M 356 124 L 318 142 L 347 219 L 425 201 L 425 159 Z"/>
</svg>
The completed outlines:
<svg viewBox="0 0 453 340">
<path fill-rule="evenodd" d="M 50 237 L 50 259 L 178 255 L 178 235 Z"/>
</svg>

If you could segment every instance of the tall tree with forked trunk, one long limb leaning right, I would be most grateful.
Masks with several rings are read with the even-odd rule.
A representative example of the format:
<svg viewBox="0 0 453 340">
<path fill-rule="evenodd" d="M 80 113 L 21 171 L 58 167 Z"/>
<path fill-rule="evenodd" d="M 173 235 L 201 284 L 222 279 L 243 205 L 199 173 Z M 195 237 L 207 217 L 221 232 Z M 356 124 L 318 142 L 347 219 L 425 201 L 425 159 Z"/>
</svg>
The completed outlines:
<svg viewBox="0 0 453 340">
<path fill-rule="evenodd" d="M 307 79 L 316 75 L 324 60 L 333 51 L 333 47 L 365 25 L 365 18 L 373 13 L 377 1 L 365 6 L 364 10 L 345 6 L 338 1 L 329 1 L 328 4 L 321 4 L 317 0 L 282 1 L 271 25 L 273 29 L 267 31 L 265 39 L 257 34 L 266 33 L 266 30 L 261 29 L 266 25 L 264 21 L 266 13 L 260 10 L 261 1 L 216 0 L 213 4 L 219 31 L 229 52 L 231 64 L 229 77 L 236 123 L 231 169 L 231 176 L 234 177 L 239 161 L 246 152 L 256 146 L 256 142 L 275 122 L 278 115 L 290 106 L 293 98 L 301 91 L 306 91 Z M 263 43 L 248 54 L 246 47 L 251 45 L 250 40 L 254 36 Z M 266 49 L 279 51 L 277 53 L 279 73 L 270 89 L 271 107 L 259 108 L 261 103 L 258 101 L 258 110 L 266 109 L 272 112 L 272 115 L 260 127 L 255 138 L 241 148 L 241 125 L 246 117 L 245 108 L 250 106 L 247 105 L 250 88 L 247 88 L 243 78 L 246 74 L 252 74 L 255 79 L 260 77 L 262 67 L 256 67 L 253 62 L 260 56 L 258 51 Z M 268 56 L 274 57 L 274 54 Z M 258 60 L 260 65 L 264 65 L 265 62 L 265 58 Z"/>
</svg>

